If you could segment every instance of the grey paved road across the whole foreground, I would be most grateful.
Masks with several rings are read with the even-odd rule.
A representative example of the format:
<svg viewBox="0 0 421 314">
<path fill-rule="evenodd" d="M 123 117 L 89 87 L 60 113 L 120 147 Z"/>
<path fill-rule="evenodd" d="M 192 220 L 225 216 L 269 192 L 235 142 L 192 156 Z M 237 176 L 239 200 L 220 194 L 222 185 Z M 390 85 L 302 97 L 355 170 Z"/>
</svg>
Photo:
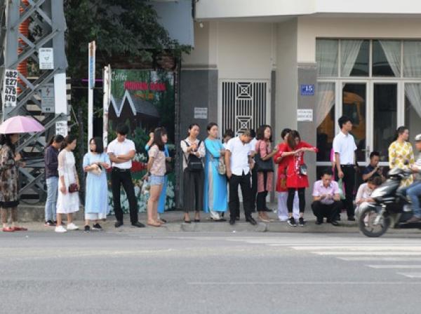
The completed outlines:
<svg viewBox="0 0 421 314">
<path fill-rule="evenodd" d="M 0 234 L 0 313 L 419 313 L 421 233 Z"/>
</svg>

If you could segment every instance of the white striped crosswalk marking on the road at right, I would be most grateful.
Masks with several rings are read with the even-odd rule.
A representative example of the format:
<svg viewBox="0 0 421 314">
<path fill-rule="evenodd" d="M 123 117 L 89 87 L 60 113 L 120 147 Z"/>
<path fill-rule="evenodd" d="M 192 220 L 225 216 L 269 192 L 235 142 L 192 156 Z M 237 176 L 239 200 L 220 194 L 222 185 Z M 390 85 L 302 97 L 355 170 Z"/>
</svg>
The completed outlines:
<svg viewBox="0 0 421 314">
<path fill-rule="evenodd" d="M 421 264 L 414 264 L 421 261 L 421 239 L 416 238 L 330 238 L 303 235 L 302 238 L 242 237 L 227 240 L 280 249 L 286 247 L 304 254 L 333 257 L 341 261 L 369 262 L 363 266 L 379 271 L 396 271 L 397 275 L 413 280 L 421 278 Z"/>
</svg>

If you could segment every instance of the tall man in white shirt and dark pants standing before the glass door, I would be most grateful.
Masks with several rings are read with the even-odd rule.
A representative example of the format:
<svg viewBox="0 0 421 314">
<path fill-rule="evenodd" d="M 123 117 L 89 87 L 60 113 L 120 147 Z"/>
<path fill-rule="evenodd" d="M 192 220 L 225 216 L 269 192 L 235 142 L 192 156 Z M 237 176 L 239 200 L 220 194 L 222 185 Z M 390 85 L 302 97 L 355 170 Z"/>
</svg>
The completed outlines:
<svg viewBox="0 0 421 314">
<path fill-rule="evenodd" d="M 356 167 L 356 144 L 354 137 L 349 134 L 352 130 L 351 118 L 341 116 L 338 120 L 340 132 L 333 139 L 333 151 L 335 151 L 335 167 L 337 168 L 336 180 L 342 179 L 345 184 L 345 207 L 347 208 L 348 220 L 355 221 L 354 217 L 354 186 Z"/>
</svg>

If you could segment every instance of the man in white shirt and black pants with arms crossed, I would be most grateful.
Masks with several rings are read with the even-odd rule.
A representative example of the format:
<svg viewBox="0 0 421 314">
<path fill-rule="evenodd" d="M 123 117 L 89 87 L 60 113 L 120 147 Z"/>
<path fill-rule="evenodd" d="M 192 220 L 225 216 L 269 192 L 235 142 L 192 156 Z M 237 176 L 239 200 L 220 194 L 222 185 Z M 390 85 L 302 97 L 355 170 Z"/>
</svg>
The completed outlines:
<svg viewBox="0 0 421 314">
<path fill-rule="evenodd" d="M 121 210 L 120 203 L 120 186 L 123 184 L 130 207 L 131 224 L 141 228 L 145 225 L 138 221 L 138 201 L 136 200 L 135 187 L 131 177 L 132 159 L 136 153 L 135 143 L 130 139 L 126 139 L 128 134 L 127 125 L 118 125 L 116 132 L 117 138 L 109 143 L 107 147 L 109 159 L 112 161 L 111 189 L 114 200 L 114 213 L 116 215 L 114 226 L 119 228 L 119 226 L 123 225 L 123 210 Z"/>
</svg>

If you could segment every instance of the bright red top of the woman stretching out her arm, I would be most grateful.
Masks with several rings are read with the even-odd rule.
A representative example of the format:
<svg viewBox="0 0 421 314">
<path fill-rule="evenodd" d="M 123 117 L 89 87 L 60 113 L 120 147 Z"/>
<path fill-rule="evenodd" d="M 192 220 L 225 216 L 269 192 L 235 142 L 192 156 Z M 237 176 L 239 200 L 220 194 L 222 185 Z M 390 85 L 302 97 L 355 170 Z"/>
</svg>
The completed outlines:
<svg viewBox="0 0 421 314">
<path fill-rule="evenodd" d="M 313 148 L 316 147 L 301 141 L 295 149 L 290 149 L 288 144 L 285 144 L 282 149 L 279 149 L 279 153 L 288 153 L 290 151 L 296 151 L 297 149 L 302 148 Z M 316 152 L 318 149 L 316 149 Z M 282 158 L 283 160 L 284 158 Z M 286 169 L 286 187 L 288 189 L 300 189 L 300 188 L 308 188 L 309 187 L 309 179 L 307 175 L 301 175 L 300 173 L 300 165 L 304 164 L 304 151 L 301 151 L 297 155 L 288 156 L 286 159 L 287 169 Z M 279 173 L 279 169 L 278 169 Z"/>
</svg>

